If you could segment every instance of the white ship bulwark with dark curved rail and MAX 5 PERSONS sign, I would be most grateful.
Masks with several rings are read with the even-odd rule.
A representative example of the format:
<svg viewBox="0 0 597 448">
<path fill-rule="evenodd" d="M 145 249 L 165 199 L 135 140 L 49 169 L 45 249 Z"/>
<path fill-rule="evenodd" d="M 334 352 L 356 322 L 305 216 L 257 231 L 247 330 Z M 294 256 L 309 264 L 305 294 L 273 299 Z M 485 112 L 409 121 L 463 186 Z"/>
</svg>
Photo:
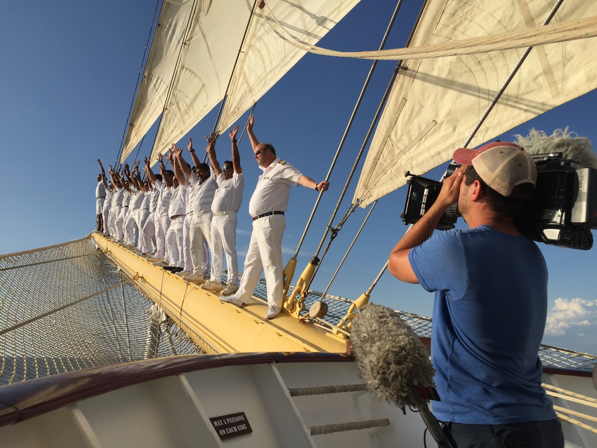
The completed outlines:
<svg viewBox="0 0 597 448">
<path fill-rule="evenodd" d="M 545 379 L 597 397 L 587 376 Z M 290 392 L 361 383 L 356 364 L 337 354 L 137 361 L 3 386 L 0 440 L 2 447 L 31 448 L 422 447 L 420 416 L 408 409 L 403 415 L 367 391 L 298 397 Z M 210 418 L 240 412 L 252 432 L 220 440 Z M 321 430 L 316 427 L 337 424 L 381 426 L 312 435 Z M 594 433 L 566 423 L 564 431 L 568 447 L 597 446 Z M 427 446 L 436 446 L 429 434 Z"/>
</svg>

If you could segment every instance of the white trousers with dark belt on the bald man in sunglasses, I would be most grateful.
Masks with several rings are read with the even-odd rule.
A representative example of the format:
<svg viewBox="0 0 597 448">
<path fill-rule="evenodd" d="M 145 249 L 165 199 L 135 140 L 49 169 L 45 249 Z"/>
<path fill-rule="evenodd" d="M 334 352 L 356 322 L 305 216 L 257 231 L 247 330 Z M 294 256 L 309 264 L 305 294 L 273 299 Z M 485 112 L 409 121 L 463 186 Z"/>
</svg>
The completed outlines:
<svg viewBox="0 0 597 448">
<path fill-rule="evenodd" d="M 283 214 L 266 216 L 253 221 L 253 233 L 245 258 L 241 286 L 234 294 L 248 303 L 257 286 L 261 271 L 265 271 L 267 304 L 282 306 L 284 294 L 284 267 L 282 266 L 282 235 L 286 229 Z"/>
</svg>

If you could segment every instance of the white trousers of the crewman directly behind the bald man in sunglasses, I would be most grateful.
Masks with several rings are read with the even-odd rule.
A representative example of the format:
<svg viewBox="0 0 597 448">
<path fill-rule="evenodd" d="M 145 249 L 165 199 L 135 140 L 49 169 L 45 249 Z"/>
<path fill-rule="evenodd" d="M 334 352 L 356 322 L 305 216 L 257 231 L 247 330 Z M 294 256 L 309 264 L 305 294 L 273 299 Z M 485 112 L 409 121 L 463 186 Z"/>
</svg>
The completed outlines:
<svg viewBox="0 0 597 448">
<path fill-rule="evenodd" d="M 236 256 L 236 213 L 221 214 L 211 220 L 211 272 L 221 277 L 226 254 L 228 284 L 238 284 L 238 257 Z"/>
</svg>

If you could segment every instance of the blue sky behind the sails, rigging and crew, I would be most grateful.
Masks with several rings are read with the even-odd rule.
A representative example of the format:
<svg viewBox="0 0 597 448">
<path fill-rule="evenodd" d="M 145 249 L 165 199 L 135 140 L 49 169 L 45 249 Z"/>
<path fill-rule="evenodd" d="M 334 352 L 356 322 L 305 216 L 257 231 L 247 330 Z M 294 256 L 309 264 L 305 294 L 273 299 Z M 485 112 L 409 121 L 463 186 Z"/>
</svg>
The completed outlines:
<svg viewBox="0 0 597 448">
<path fill-rule="evenodd" d="M 386 48 L 405 44 L 418 13 L 413 2 L 405 4 Z M 4 192 L 0 195 L 0 253 L 75 240 L 95 228 L 96 159 L 101 158 L 106 167 L 116 160 L 154 8 L 153 2 L 141 0 L 29 0 L 3 5 L 0 142 L 5 162 L 0 176 Z M 393 8 L 386 0 L 362 1 L 321 46 L 345 51 L 376 49 Z M 324 179 L 369 67 L 367 61 L 307 55 L 257 104 L 257 137 L 272 142 L 282 158 L 307 176 Z M 330 178 L 330 191 L 324 194 L 301 248 L 299 272 L 324 234 L 392 71 L 392 62 L 382 62 L 376 69 Z M 551 133 L 570 126 L 595 142 L 596 99 L 593 91 L 501 139 L 527 134 L 531 127 Z M 189 132 L 196 148 L 202 147 L 202 136 L 213 128 L 215 116 L 211 112 Z M 239 122 L 241 127 L 243 123 Z M 178 142 L 183 148 L 187 138 Z M 151 139 L 146 141 L 141 156 L 150 151 Z M 217 149 L 221 157 L 228 156 L 228 145 Z M 241 157 L 245 156 L 241 162 L 246 188 L 239 214 L 238 249 L 244 254 L 251 222 L 243 211 L 248 209 L 259 170 L 246 139 L 240 149 Z M 416 167 L 411 171 L 416 173 Z M 443 171 L 438 168 L 427 177 L 439 179 Z M 356 177 L 334 225 L 349 207 L 355 187 Z M 406 229 L 399 217 L 404 197 L 402 188 L 379 201 L 330 293 L 356 298 L 370 286 Z M 312 190 L 293 190 L 284 237 L 287 258 L 296 250 L 315 198 Z M 347 220 L 325 256 L 313 283 L 315 289 L 325 289 L 365 214 L 359 209 Z M 544 342 L 597 353 L 597 249 L 576 251 L 544 244 L 540 248 L 550 272 L 552 310 Z M 430 316 L 433 296 L 386 273 L 373 290 L 372 300 Z"/>
</svg>

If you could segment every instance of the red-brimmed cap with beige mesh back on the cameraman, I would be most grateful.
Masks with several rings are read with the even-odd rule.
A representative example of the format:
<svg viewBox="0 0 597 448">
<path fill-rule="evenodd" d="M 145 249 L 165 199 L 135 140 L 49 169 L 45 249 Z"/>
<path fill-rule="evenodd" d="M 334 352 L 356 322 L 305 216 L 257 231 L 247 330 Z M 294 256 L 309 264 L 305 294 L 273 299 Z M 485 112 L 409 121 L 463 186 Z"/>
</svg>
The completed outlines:
<svg viewBox="0 0 597 448">
<path fill-rule="evenodd" d="M 512 142 L 492 142 L 476 150 L 458 148 L 453 158 L 461 165 L 473 165 L 483 182 L 506 197 L 516 185 L 537 182 L 535 162 Z"/>
</svg>

